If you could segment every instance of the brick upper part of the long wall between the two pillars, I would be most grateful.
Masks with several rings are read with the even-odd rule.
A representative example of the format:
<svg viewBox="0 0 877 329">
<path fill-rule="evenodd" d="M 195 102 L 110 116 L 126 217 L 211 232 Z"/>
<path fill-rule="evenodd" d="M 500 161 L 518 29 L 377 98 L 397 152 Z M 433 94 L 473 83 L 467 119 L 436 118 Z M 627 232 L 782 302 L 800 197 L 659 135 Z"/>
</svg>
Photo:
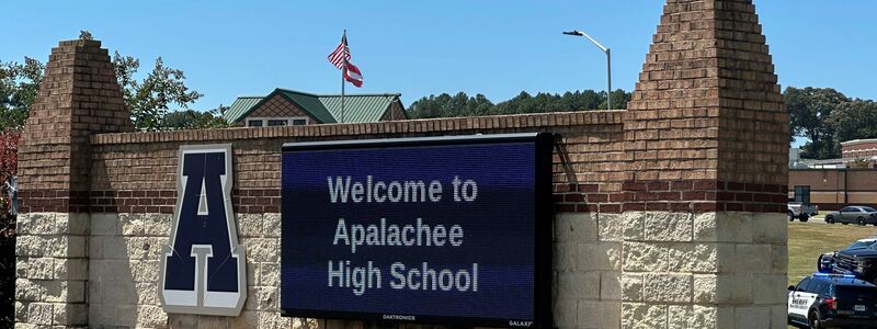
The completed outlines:
<svg viewBox="0 0 877 329">
<path fill-rule="evenodd" d="M 232 143 L 235 207 L 242 213 L 277 212 L 280 149 L 301 140 L 554 132 L 558 134 L 554 178 L 560 211 L 619 212 L 623 200 L 623 111 L 528 114 L 498 117 L 331 124 L 221 131 L 101 134 L 91 138 L 93 162 L 88 193 L 76 194 L 92 213 L 171 213 L 175 202 L 180 145 Z M 613 198 L 607 195 L 612 193 Z M 593 194 L 589 198 L 589 194 Z M 23 191 L 23 212 L 61 211 L 70 197 L 60 190 Z"/>
</svg>

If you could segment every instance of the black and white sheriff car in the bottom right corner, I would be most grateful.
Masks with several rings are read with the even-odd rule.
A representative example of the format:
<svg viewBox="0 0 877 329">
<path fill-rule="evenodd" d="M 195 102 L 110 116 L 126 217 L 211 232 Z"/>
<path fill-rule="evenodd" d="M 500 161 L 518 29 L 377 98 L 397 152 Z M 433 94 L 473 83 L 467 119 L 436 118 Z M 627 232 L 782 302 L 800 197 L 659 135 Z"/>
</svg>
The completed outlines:
<svg viewBox="0 0 877 329">
<path fill-rule="evenodd" d="M 788 287 L 788 324 L 877 328 L 877 286 L 853 275 L 816 273 Z"/>
</svg>

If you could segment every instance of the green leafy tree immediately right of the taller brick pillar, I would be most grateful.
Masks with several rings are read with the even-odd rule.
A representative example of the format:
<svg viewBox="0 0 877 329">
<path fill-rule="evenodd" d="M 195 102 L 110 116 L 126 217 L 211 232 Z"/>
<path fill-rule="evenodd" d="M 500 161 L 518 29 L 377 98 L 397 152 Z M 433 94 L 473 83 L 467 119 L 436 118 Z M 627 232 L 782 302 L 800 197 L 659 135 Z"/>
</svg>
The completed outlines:
<svg viewBox="0 0 877 329">
<path fill-rule="evenodd" d="M 850 99 L 831 88 L 786 88 L 783 92 L 790 116 L 790 137 L 804 136 L 810 141 L 801 148 L 801 156 L 811 159 L 840 157 L 840 140 L 829 117 Z"/>
</svg>

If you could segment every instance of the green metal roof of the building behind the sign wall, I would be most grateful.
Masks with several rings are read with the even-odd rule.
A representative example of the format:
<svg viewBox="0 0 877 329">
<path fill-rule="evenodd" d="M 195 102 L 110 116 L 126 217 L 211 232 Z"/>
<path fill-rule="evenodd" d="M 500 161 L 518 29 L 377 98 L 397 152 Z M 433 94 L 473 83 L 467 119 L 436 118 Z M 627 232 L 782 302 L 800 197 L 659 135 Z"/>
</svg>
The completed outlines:
<svg viewBox="0 0 877 329">
<path fill-rule="evenodd" d="M 237 123 L 261 103 L 276 93 L 283 94 L 291 102 L 298 105 L 303 111 L 308 112 L 318 123 L 341 122 L 341 95 L 340 94 L 312 94 L 296 90 L 275 89 L 266 97 L 240 97 L 235 100 L 225 113 L 227 122 Z M 378 122 L 387 112 L 394 101 L 399 101 L 398 93 L 374 93 L 374 94 L 345 94 L 344 95 L 344 122 L 345 123 L 366 123 Z"/>
</svg>

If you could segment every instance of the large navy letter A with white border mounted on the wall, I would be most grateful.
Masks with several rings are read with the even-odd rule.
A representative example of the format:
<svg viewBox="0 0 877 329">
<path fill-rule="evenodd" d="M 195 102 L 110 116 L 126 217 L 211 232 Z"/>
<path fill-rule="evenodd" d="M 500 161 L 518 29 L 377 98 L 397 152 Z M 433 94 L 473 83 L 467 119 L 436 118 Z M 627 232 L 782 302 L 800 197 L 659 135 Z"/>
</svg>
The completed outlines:
<svg viewBox="0 0 877 329">
<path fill-rule="evenodd" d="M 159 298 L 167 313 L 238 316 L 247 299 L 247 271 L 231 212 L 231 145 L 181 146 L 179 155 Z"/>
</svg>

